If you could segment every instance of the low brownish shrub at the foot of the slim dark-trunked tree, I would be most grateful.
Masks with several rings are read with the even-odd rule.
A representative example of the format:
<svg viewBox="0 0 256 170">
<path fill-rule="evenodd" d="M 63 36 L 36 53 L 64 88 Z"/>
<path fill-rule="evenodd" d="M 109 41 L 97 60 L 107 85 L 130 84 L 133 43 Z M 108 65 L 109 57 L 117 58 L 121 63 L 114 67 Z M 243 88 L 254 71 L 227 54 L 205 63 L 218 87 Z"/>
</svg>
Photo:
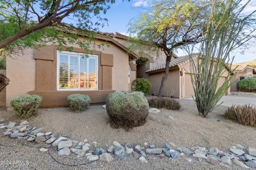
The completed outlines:
<svg viewBox="0 0 256 170">
<path fill-rule="evenodd" d="M 178 100 L 171 98 L 150 97 L 148 98 L 148 104 L 153 108 L 164 108 L 168 110 L 179 110 L 181 107 Z"/>
</svg>

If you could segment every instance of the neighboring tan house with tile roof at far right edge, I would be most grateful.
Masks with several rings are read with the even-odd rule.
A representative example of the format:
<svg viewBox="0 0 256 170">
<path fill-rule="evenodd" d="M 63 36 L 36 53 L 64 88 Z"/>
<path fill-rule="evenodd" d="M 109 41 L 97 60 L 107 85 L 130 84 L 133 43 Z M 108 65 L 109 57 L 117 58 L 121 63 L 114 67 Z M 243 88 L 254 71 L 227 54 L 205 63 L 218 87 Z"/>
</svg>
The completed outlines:
<svg viewBox="0 0 256 170">
<path fill-rule="evenodd" d="M 234 83 L 231 85 L 230 91 L 239 91 L 238 84 L 240 80 L 244 78 L 256 78 L 256 69 L 248 64 L 232 64 L 231 69 L 234 70 L 236 75 L 231 79 L 231 82 Z"/>
</svg>

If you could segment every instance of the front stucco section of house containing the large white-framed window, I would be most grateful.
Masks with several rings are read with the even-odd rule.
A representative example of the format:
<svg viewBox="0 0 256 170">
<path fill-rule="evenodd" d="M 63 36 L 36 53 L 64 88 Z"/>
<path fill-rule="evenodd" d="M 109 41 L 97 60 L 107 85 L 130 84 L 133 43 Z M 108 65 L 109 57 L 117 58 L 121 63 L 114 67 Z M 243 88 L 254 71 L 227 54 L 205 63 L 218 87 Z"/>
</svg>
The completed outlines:
<svg viewBox="0 0 256 170">
<path fill-rule="evenodd" d="M 67 96 L 74 93 L 89 95 L 92 103 L 103 103 L 110 93 L 128 91 L 137 69 L 129 61 L 137 54 L 127 53 L 127 47 L 110 35 L 96 35 L 96 44 L 107 42 L 109 47 L 103 50 L 92 45 L 93 54 L 88 58 L 76 44 L 67 44 L 74 47 L 68 52 L 58 51 L 52 43 L 7 57 L 4 73 L 10 84 L 0 93 L 1 105 L 10 108 L 10 100 L 21 94 L 42 96 L 41 107 L 67 106 Z"/>
</svg>

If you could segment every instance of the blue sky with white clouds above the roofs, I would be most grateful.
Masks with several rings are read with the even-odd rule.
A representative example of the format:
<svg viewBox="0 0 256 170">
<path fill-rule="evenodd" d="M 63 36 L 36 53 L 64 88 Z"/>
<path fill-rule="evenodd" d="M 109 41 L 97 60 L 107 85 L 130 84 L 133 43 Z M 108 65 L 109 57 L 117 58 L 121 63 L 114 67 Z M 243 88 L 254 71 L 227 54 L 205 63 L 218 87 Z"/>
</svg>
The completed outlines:
<svg viewBox="0 0 256 170">
<path fill-rule="evenodd" d="M 110 9 L 107 11 L 106 15 L 102 17 L 108 19 L 108 26 L 106 25 L 100 31 L 109 33 L 121 33 L 127 35 L 127 25 L 129 21 L 135 17 L 138 17 L 140 11 L 149 5 L 150 0 L 117 0 L 115 4 L 111 5 Z M 245 3 L 243 0 L 242 3 Z M 256 0 L 251 0 L 247 5 L 245 12 L 249 13 L 256 10 Z M 183 52 L 178 51 L 178 56 L 182 56 Z M 243 53 L 237 51 L 232 55 L 235 56 L 234 63 L 246 62 L 256 60 L 256 41 L 252 40 L 250 45 Z"/>
</svg>

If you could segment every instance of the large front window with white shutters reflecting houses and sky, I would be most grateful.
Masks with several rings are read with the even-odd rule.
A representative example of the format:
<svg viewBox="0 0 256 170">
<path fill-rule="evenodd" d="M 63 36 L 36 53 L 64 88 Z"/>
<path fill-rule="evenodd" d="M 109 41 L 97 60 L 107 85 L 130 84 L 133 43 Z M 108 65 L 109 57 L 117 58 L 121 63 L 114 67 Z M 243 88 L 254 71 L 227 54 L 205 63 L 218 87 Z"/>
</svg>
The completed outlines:
<svg viewBox="0 0 256 170">
<path fill-rule="evenodd" d="M 58 52 L 58 90 L 98 90 L 98 56 Z"/>
</svg>

